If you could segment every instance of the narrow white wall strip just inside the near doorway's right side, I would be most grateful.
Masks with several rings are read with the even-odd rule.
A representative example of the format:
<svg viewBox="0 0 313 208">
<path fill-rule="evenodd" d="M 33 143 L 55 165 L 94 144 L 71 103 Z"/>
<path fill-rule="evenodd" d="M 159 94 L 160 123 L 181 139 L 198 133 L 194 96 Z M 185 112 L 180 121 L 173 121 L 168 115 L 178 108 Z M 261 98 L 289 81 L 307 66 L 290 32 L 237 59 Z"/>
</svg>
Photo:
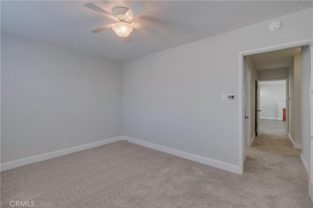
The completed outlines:
<svg viewBox="0 0 313 208">
<path fill-rule="evenodd" d="M 312 57 L 311 57 L 312 58 Z M 311 106 L 310 106 L 310 89 L 311 89 L 311 60 L 309 46 L 301 47 L 301 109 L 304 116 L 301 117 L 301 136 L 302 136 L 302 155 L 307 164 L 311 164 Z"/>
</svg>

